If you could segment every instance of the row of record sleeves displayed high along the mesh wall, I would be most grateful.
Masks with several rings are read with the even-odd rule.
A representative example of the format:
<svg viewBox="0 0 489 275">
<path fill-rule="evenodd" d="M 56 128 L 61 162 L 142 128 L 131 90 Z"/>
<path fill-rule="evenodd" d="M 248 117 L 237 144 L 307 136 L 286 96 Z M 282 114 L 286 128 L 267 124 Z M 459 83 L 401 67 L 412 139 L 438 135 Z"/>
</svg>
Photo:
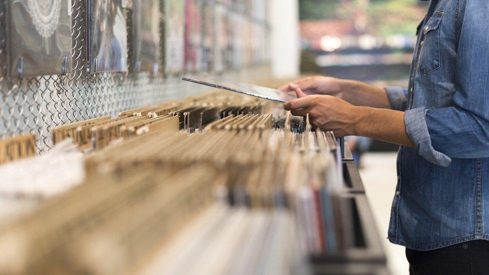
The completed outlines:
<svg viewBox="0 0 489 275">
<path fill-rule="evenodd" d="M 126 1 L 8 0 L 3 74 L 69 74 L 74 58 L 86 60 L 89 74 L 156 73 L 159 64 L 168 74 L 222 72 L 269 59 L 267 0 L 233 0 L 252 15 L 231 8 L 231 0 Z M 86 15 L 76 8 L 84 3 Z"/>
</svg>

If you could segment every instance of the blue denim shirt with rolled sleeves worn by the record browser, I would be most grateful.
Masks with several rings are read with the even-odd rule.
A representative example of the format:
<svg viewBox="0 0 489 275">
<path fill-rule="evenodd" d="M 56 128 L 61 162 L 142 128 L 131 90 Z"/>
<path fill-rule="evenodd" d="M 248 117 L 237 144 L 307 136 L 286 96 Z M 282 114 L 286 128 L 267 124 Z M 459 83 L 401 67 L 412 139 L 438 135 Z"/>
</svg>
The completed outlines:
<svg viewBox="0 0 489 275">
<path fill-rule="evenodd" d="M 489 240 L 489 3 L 432 0 L 418 28 L 405 111 L 415 148 L 401 146 L 389 240 L 432 250 Z"/>
</svg>

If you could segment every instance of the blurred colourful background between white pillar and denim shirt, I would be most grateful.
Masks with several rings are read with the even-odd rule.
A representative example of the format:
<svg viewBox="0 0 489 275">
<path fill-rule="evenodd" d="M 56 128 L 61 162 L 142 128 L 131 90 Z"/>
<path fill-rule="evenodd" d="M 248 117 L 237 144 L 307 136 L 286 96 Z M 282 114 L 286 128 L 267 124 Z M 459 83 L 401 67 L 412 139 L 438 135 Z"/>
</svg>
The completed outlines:
<svg viewBox="0 0 489 275">
<path fill-rule="evenodd" d="M 427 1 L 418 0 L 299 0 L 301 72 L 403 83 L 426 6 Z M 322 37 L 340 38 L 341 47 L 322 51 Z M 365 38 L 376 46 L 362 48 Z M 392 39 L 400 45 L 387 45 Z"/>
</svg>

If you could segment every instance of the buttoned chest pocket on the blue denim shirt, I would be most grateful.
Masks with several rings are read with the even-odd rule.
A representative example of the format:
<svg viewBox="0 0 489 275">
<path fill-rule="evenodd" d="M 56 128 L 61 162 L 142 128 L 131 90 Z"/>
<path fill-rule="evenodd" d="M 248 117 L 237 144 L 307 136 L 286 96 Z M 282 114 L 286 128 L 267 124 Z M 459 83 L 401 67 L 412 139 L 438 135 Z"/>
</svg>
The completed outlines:
<svg viewBox="0 0 489 275">
<path fill-rule="evenodd" d="M 423 40 L 421 40 L 421 51 L 419 53 L 419 71 L 427 75 L 440 68 L 440 24 L 444 12 L 436 11 L 428 19 L 423 28 Z"/>
</svg>

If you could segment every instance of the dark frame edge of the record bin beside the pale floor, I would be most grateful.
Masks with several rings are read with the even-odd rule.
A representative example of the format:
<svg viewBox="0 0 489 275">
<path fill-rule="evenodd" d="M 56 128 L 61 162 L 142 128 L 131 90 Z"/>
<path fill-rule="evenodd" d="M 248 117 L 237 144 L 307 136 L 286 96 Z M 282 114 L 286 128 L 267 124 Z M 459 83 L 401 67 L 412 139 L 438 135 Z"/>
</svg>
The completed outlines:
<svg viewBox="0 0 489 275">
<path fill-rule="evenodd" d="M 313 274 L 388 274 L 382 242 L 357 165 L 349 158 L 348 146 L 344 150 L 343 174 L 347 188 L 341 199 L 353 211 L 353 247 L 337 253 L 311 255 L 311 271 Z"/>
</svg>

